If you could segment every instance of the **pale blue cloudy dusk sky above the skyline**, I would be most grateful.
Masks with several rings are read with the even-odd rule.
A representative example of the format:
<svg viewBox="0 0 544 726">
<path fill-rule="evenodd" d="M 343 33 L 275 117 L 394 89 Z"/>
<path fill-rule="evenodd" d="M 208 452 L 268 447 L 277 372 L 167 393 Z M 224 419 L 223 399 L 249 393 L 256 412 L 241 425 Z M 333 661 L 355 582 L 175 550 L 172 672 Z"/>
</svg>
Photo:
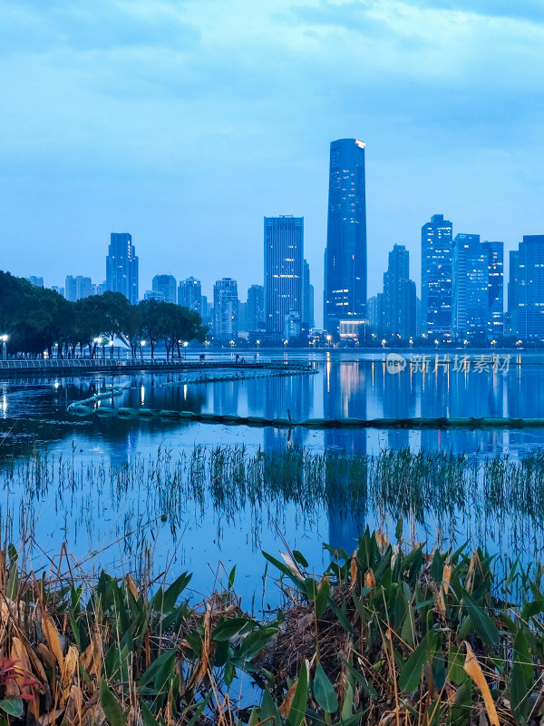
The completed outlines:
<svg viewBox="0 0 544 726">
<path fill-rule="evenodd" d="M 0 269 L 262 284 L 303 215 L 320 324 L 329 142 L 366 147 L 369 293 L 421 227 L 544 233 L 541 0 L 0 0 Z"/>
</svg>

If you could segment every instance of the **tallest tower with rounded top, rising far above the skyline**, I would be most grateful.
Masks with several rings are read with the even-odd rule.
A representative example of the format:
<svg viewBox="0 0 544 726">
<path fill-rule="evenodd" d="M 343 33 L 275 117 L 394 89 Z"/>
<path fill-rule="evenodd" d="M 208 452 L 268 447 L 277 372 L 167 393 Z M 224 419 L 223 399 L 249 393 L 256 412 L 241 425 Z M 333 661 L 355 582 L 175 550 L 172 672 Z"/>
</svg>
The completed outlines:
<svg viewBox="0 0 544 726">
<path fill-rule="evenodd" d="M 363 319 L 366 308 L 366 201 L 364 142 L 331 143 L 325 249 L 324 327 Z"/>
</svg>

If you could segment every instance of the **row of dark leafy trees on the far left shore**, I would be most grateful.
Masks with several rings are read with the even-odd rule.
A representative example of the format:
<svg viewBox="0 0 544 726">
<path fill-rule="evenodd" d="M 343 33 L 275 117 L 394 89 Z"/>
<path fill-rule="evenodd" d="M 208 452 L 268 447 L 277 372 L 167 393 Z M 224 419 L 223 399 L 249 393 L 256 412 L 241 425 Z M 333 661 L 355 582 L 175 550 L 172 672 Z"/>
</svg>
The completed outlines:
<svg viewBox="0 0 544 726">
<path fill-rule="evenodd" d="M 119 292 L 105 292 L 69 302 L 51 289 L 37 288 L 27 280 L 0 270 L 0 335 L 8 335 L 10 353 L 49 356 L 58 346 L 63 357 L 79 348 L 93 355 L 100 338 L 119 338 L 133 356 L 141 341 L 151 348 L 164 343 L 167 356 L 181 356 L 181 344 L 204 342 L 208 329 L 194 310 L 157 300 L 131 303 Z"/>
</svg>

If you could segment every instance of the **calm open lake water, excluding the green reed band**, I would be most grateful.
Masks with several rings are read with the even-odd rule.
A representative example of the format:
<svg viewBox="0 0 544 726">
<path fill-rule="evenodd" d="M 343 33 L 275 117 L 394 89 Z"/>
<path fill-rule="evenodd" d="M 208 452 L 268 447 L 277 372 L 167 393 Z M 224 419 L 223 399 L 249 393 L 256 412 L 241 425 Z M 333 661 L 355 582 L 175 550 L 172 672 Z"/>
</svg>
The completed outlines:
<svg viewBox="0 0 544 726">
<path fill-rule="evenodd" d="M 279 354 L 277 358 L 308 360 L 317 375 L 292 378 L 238 379 L 218 383 L 183 385 L 190 374 L 139 374 L 130 377 L 96 375 L 87 378 L 21 378 L 0 380 L 0 440 L 6 450 L 14 447 L 24 454 L 27 446 L 46 456 L 56 486 L 35 495 L 27 491 L 19 476 L 2 479 L 3 502 L 0 514 L 5 520 L 11 511 L 12 536 L 16 540 L 21 528 L 32 531 L 36 542 L 50 553 L 57 553 L 63 540 L 80 558 L 108 547 L 95 555 L 89 566 L 106 565 L 111 570 L 134 566 L 134 553 L 143 540 L 155 547 L 158 566 L 173 561 L 172 568 L 188 568 L 197 573 L 195 586 L 206 591 L 213 584 L 219 561 L 227 571 L 238 564 L 238 589 L 246 594 L 260 591 L 256 575 L 264 564 L 258 548 L 277 554 L 290 547 L 306 554 L 312 564 L 322 564 L 321 542 L 329 541 L 353 549 L 357 530 L 366 525 L 392 525 L 379 521 L 374 511 L 345 512 L 325 508 L 319 502 L 311 506 L 292 501 L 264 502 L 260 510 L 241 505 L 221 511 L 220 506 L 196 503 L 188 499 L 180 507 L 174 526 L 147 522 L 160 515 L 160 502 L 153 500 L 153 484 L 133 484 L 121 495 L 114 491 L 109 478 L 110 467 L 130 464 L 144 466 L 160 456 L 175 462 L 189 456 L 195 444 L 213 447 L 218 444 L 244 445 L 254 451 L 285 450 L 304 446 L 311 451 L 337 450 L 377 454 L 405 446 L 413 450 L 452 451 L 468 456 L 485 457 L 504 452 L 524 456 L 539 449 L 544 430 L 510 431 L 409 431 L 350 430 L 310 431 L 295 428 L 291 432 L 267 428 L 182 424 L 159 420 L 112 418 L 77 418 L 67 414 L 73 401 L 89 397 L 102 388 L 121 384 L 121 397 L 102 402 L 102 406 L 149 407 L 262 416 L 306 418 L 374 418 L 374 417 L 544 417 L 544 367 L 538 358 L 522 355 L 509 361 L 500 353 L 499 365 L 489 358 L 472 358 L 467 366 L 453 362 L 438 365 L 434 355 L 428 369 L 420 361 L 415 370 L 388 372 L 380 353 L 371 361 L 368 355 L 354 351 L 317 352 L 313 354 Z M 451 355 L 451 358 L 452 355 Z M 455 369 L 458 368 L 458 369 Z M 195 374 L 196 375 L 196 374 Z M 248 374 L 249 375 L 249 374 Z M 64 470 L 59 460 L 72 468 Z M 89 465 L 102 466 L 102 479 L 88 474 Z M 146 465 L 147 466 L 147 465 Z M 77 471 L 79 479 L 73 478 Z M 72 477 L 72 483 L 67 479 Z M 70 485 L 70 486 L 69 486 Z M 145 486 L 143 491 L 142 486 Z M 60 489 L 63 494 L 59 495 Z M 151 492 L 151 494 L 150 494 Z M 256 514 L 257 513 L 257 514 Z M 380 515 L 383 518 L 384 514 Z M 425 529 L 432 538 L 440 512 L 429 511 Z M 470 513 L 459 515 L 456 534 L 452 526 L 447 537 L 457 540 L 467 536 L 485 536 L 497 552 L 511 546 L 515 539 L 527 549 L 539 549 L 539 534 L 525 523 L 520 537 L 519 523 L 504 523 L 500 533 L 497 523 L 475 522 Z M 512 529 L 513 527 L 513 529 Z M 172 531 L 175 530 L 175 531 Z M 108 546 L 126 532 L 137 531 L 131 546 Z M 515 535 L 515 536 L 514 536 Z M 525 541 L 525 539 L 527 541 Z M 530 542 L 529 542 L 530 540 Z M 496 543 L 493 545 L 493 541 Z M 153 544 L 155 543 L 155 544 Z M 38 553 L 34 554 L 39 560 Z M 245 583 L 245 584 L 244 584 Z"/>
</svg>

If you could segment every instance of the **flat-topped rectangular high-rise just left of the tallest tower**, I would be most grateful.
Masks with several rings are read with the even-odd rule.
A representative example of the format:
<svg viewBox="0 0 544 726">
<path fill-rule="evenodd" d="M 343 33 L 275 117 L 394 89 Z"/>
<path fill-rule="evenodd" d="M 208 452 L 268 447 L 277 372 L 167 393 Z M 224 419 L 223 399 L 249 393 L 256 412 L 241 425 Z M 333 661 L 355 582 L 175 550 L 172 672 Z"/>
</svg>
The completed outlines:
<svg viewBox="0 0 544 726">
<path fill-rule="evenodd" d="M 304 218 L 265 217 L 265 322 L 284 335 L 286 317 L 302 313 Z"/>
</svg>

